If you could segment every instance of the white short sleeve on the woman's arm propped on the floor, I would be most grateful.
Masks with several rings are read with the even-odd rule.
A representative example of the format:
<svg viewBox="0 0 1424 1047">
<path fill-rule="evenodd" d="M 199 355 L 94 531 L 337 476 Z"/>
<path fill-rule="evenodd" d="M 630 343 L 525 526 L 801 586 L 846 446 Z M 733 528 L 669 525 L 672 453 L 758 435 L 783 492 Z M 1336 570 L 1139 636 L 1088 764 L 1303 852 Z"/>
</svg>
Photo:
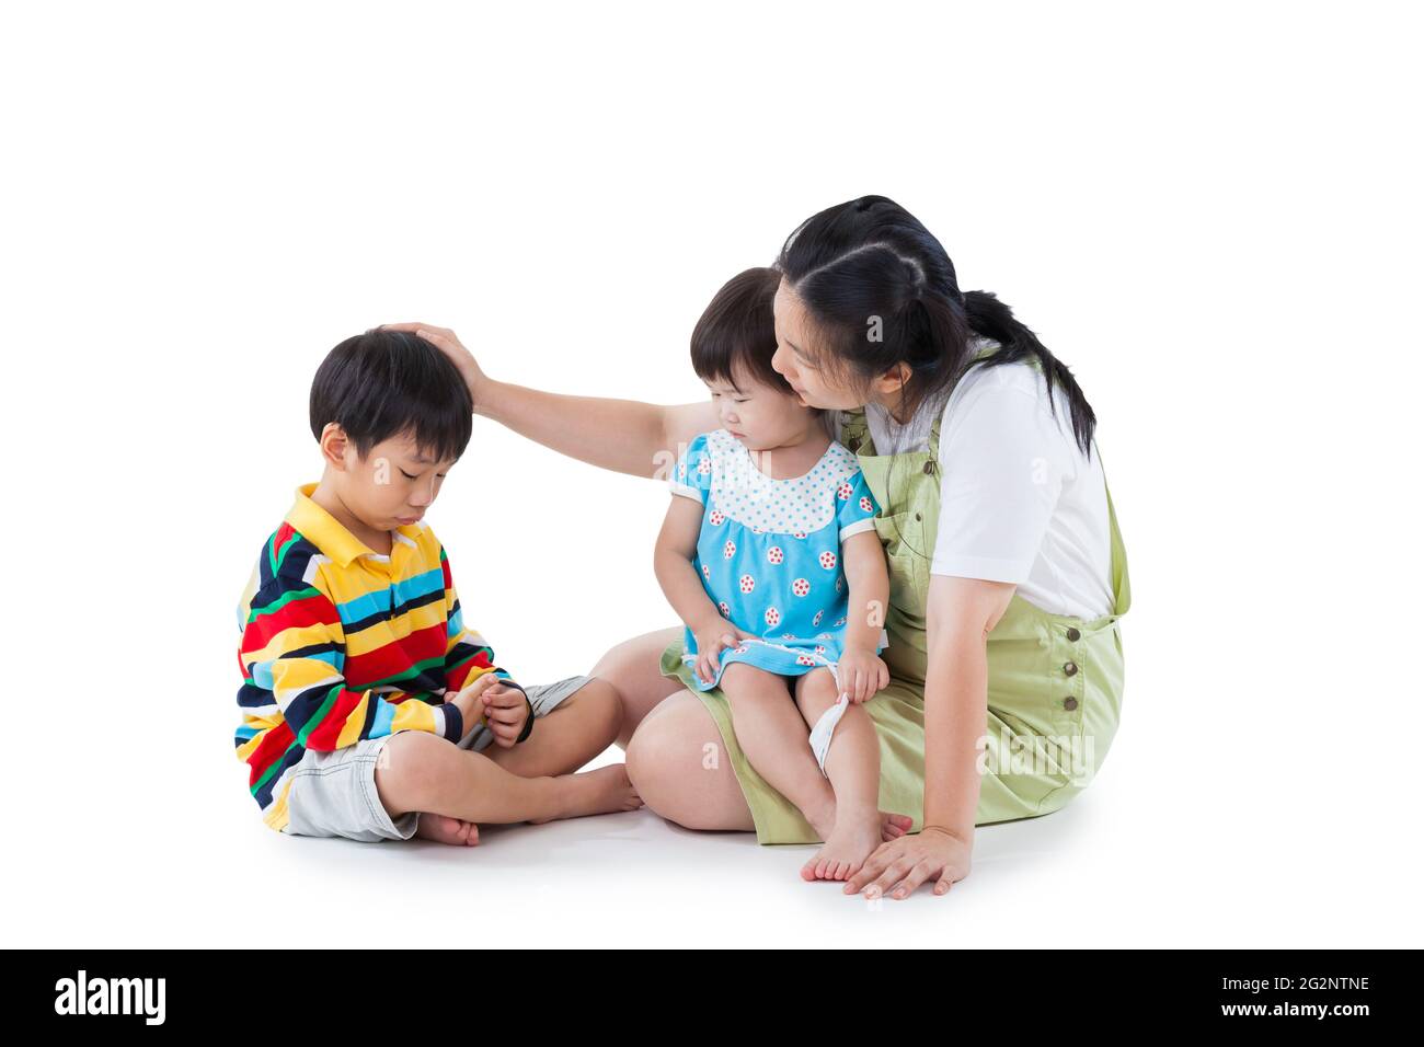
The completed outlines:
<svg viewBox="0 0 1424 1047">
<path fill-rule="evenodd" d="M 948 410 L 930 573 L 1024 583 L 1075 473 L 1072 450 L 1044 402 L 1024 389 L 991 386 Z"/>
</svg>

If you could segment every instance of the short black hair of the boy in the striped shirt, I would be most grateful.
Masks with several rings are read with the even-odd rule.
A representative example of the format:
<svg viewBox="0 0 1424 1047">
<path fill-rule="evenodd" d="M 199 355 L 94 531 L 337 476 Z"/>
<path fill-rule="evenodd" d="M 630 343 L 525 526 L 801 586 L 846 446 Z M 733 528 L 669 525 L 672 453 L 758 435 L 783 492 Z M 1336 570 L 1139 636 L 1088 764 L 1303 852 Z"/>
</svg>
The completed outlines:
<svg viewBox="0 0 1424 1047">
<path fill-rule="evenodd" d="M 409 433 L 423 454 L 459 459 L 473 426 L 470 389 L 443 352 L 404 330 L 367 330 L 332 349 L 312 380 L 312 434 L 337 423 L 363 459 Z"/>
</svg>

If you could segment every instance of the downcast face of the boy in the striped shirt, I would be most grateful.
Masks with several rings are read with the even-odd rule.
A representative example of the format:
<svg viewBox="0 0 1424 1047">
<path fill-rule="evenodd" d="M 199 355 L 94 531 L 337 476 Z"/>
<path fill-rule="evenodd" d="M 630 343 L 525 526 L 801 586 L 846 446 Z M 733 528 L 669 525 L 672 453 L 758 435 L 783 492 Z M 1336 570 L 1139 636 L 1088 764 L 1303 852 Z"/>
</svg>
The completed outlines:
<svg viewBox="0 0 1424 1047">
<path fill-rule="evenodd" d="M 454 459 L 436 462 L 410 436 L 382 440 L 363 459 L 346 442 L 339 470 L 340 497 L 367 527 L 390 531 L 423 517 L 440 493 Z"/>
</svg>

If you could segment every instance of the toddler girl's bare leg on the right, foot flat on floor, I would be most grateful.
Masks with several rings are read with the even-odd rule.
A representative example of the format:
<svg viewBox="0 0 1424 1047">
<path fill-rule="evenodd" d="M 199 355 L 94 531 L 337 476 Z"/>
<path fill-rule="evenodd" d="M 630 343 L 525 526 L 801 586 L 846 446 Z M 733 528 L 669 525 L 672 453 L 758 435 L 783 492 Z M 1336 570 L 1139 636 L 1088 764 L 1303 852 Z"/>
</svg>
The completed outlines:
<svg viewBox="0 0 1424 1047">
<path fill-rule="evenodd" d="M 837 692 L 830 670 L 812 670 L 797 677 L 796 705 L 807 726 L 815 726 L 836 704 Z M 813 758 L 812 766 L 815 764 Z M 880 846 L 880 739 L 859 705 L 850 705 L 836 725 L 826 752 L 826 776 L 834 791 L 836 818 L 830 833 L 822 835 L 826 845 L 802 866 L 802 877 L 807 880 L 849 879 Z"/>
</svg>

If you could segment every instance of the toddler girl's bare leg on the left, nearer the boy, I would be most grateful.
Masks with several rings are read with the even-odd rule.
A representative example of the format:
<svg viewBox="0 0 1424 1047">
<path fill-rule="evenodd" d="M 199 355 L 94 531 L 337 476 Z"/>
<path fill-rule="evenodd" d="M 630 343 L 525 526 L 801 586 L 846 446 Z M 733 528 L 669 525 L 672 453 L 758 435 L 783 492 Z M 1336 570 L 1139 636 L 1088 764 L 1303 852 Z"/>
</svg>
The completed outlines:
<svg viewBox="0 0 1424 1047">
<path fill-rule="evenodd" d="M 836 796 L 816 766 L 806 724 L 786 679 L 745 662 L 732 662 L 722 671 L 721 688 L 732 707 L 732 725 L 746 762 L 806 815 L 822 839 L 827 839 L 836 822 Z"/>
</svg>

